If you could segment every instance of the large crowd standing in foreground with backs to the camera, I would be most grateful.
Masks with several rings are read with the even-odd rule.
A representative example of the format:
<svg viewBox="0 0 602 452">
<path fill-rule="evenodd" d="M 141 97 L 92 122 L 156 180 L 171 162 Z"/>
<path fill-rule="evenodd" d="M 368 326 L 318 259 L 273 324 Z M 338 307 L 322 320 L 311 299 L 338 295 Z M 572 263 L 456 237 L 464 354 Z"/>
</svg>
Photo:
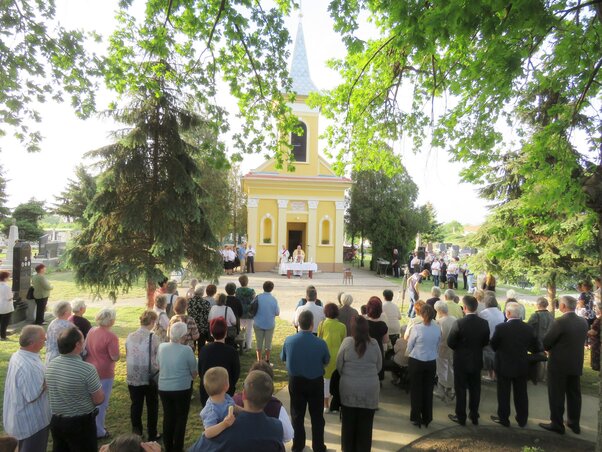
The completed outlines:
<svg viewBox="0 0 602 452">
<path fill-rule="evenodd" d="M 349 293 L 340 293 L 336 303 L 322 302 L 316 287 L 307 287 L 291 319 L 297 332 L 286 338 L 279 357 L 288 375 L 290 415 L 273 396 L 271 350 L 280 315 L 274 284 L 266 281 L 262 292 L 255 293 L 242 275 L 238 287 L 230 282 L 225 293 L 218 293 L 213 284 L 193 281 L 186 295 L 179 296 L 177 285 L 161 281 L 164 290 L 157 292 L 153 309 L 142 313 L 140 327 L 125 341 L 134 435 L 127 441 L 145 437 L 144 450 L 160 450 L 162 442 L 167 452 L 182 451 L 198 377 L 204 434 L 193 451 L 281 451 L 291 440 L 292 450 L 301 451 L 307 410 L 315 452 L 326 450 L 325 415 L 331 413 L 341 417 L 342 449 L 369 451 L 385 370 L 391 371 L 394 384 L 407 386 L 409 417 L 417 428 L 432 422 L 433 396 L 455 403 L 451 421 L 478 425 L 485 370 L 497 385 L 494 422 L 511 425 L 513 392 L 515 420 L 524 427 L 527 382 L 545 379 L 550 422 L 540 426 L 579 433 L 580 375 L 588 338 L 592 367 L 600 368 L 600 281 L 595 281 L 596 294 L 593 284 L 584 281 L 578 299 L 561 297 L 562 316 L 554 319 L 547 300 L 540 298 L 537 311 L 526 319 L 515 298 L 508 296 L 500 308 L 490 290 L 476 289 L 460 299 L 453 289 L 442 293 L 434 286 L 423 301 L 420 278 L 429 274 L 422 269 L 410 278 L 415 278 L 410 285 L 413 316 L 403 326 L 391 290 L 382 299 L 370 297 L 358 312 Z M 49 434 L 55 451 L 96 451 L 99 440 L 112 436 L 105 420 L 118 415 L 110 412 L 115 364 L 122 359 L 112 331 L 117 313 L 101 309 L 92 327 L 85 312 L 82 300 L 59 302 L 46 331 L 39 325 L 21 331 L 20 349 L 8 366 L 3 413 L 4 428 L 18 440 L 20 451 L 46 450 Z M 39 356 L 44 346 L 45 363 Z M 256 354 L 238 393 L 237 346 Z M 119 441 L 105 450 L 119 450 Z"/>
</svg>

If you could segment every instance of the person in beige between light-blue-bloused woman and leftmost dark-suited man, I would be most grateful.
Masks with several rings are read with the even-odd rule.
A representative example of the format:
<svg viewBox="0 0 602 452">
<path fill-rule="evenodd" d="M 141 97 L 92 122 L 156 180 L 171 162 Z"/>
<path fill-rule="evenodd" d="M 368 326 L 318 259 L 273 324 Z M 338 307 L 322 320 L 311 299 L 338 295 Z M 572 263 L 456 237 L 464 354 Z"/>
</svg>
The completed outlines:
<svg viewBox="0 0 602 452">
<path fill-rule="evenodd" d="M 454 351 L 447 345 L 447 338 L 456 318 L 448 315 L 447 304 L 439 300 L 435 303 L 437 324 L 441 328 L 439 353 L 437 354 L 437 388 L 435 395 L 444 402 L 454 400 Z"/>
</svg>

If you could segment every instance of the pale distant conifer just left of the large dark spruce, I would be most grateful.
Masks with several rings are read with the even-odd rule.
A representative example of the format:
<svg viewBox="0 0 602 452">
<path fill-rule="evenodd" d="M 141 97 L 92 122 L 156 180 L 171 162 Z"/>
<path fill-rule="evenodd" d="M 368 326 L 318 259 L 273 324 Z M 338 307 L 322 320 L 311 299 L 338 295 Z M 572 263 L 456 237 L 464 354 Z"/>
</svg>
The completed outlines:
<svg viewBox="0 0 602 452">
<path fill-rule="evenodd" d="M 86 208 L 95 194 L 96 177 L 88 173 L 85 166 L 78 165 L 75 169 L 75 179 L 69 179 L 65 190 L 56 197 L 54 213 L 77 221 L 85 227 L 88 224 Z"/>
</svg>

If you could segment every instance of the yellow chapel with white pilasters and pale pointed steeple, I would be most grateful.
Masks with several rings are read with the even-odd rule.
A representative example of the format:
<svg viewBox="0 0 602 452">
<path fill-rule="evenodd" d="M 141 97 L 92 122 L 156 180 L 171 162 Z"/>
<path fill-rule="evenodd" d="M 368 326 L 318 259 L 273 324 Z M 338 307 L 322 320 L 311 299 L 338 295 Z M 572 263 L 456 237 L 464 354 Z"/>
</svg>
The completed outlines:
<svg viewBox="0 0 602 452">
<path fill-rule="evenodd" d="M 303 27 L 297 28 L 291 78 L 303 134 L 291 133 L 295 171 L 277 169 L 274 160 L 242 178 L 247 195 L 247 243 L 256 250 L 255 270 L 272 270 L 282 247 L 292 256 L 297 246 L 306 262 L 322 272 L 343 269 L 345 191 L 351 180 L 338 177 L 318 152 L 319 109 L 306 104 L 309 93 L 318 91 L 309 73 Z"/>
</svg>

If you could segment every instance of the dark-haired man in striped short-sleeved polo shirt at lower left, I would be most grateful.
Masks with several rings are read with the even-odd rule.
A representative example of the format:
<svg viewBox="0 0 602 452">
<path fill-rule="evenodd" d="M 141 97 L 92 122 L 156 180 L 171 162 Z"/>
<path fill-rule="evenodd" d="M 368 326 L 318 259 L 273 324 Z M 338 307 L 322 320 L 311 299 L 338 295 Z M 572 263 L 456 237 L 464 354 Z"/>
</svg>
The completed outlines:
<svg viewBox="0 0 602 452">
<path fill-rule="evenodd" d="M 96 452 L 96 405 L 104 393 L 96 368 L 81 358 L 84 336 L 71 327 L 58 337 L 61 354 L 48 364 L 46 381 L 50 399 L 53 452 Z"/>
</svg>

